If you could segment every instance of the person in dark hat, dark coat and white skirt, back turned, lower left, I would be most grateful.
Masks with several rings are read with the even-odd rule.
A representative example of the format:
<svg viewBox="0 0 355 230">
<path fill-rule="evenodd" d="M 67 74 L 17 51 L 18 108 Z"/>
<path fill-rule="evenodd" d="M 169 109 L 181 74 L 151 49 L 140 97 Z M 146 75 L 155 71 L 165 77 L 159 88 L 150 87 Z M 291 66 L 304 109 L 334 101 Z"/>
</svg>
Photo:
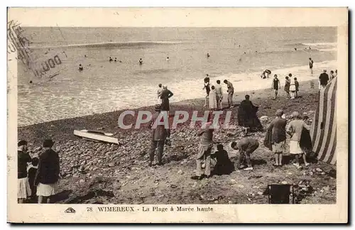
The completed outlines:
<svg viewBox="0 0 355 230">
<path fill-rule="evenodd" d="M 58 191 L 58 180 L 60 163 L 58 153 L 52 149 L 54 142 L 47 139 L 43 142 L 44 152 L 40 154 L 38 170 L 35 175 L 35 186 L 37 186 L 38 204 L 52 202 L 51 198 Z"/>
</svg>

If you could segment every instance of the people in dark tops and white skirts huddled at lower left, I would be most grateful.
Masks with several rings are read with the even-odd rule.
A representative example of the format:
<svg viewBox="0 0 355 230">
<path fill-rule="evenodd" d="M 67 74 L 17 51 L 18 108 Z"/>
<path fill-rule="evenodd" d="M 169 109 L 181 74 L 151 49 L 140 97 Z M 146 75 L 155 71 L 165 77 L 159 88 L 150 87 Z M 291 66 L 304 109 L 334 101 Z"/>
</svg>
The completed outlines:
<svg viewBox="0 0 355 230">
<path fill-rule="evenodd" d="M 31 158 L 28 153 L 28 142 L 18 141 L 17 150 L 17 197 L 18 203 L 25 201 L 38 204 L 51 203 L 58 192 L 60 160 L 52 147 L 50 139 L 43 141 L 42 153 Z"/>
</svg>

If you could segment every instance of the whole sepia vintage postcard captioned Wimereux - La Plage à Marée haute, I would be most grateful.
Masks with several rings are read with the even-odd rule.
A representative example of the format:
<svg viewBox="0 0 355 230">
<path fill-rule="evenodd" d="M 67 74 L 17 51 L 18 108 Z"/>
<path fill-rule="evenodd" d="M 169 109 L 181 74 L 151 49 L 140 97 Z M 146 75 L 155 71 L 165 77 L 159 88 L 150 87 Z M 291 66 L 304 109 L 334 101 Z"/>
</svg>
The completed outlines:
<svg viewBox="0 0 355 230">
<path fill-rule="evenodd" d="M 348 221 L 348 9 L 9 8 L 7 36 L 9 222 Z"/>
</svg>

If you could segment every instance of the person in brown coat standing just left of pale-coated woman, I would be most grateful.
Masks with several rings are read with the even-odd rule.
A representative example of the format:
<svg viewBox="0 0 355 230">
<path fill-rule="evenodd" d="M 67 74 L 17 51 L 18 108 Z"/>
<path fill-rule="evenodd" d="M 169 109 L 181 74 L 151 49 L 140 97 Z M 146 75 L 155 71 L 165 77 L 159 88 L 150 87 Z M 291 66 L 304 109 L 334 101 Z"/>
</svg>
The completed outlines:
<svg viewBox="0 0 355 230">
<path fill-rule="evenodd" d="M 276 111 L 276 118 L 271 121 L 268 131 L 271 132 L 271 148 L 275 154 L 275 164 L 273 166 L 280 167 L 283 165 L 283 152 L 286 146 L 286 119 L 282 118 L 283 110 Z"/>
</svg>

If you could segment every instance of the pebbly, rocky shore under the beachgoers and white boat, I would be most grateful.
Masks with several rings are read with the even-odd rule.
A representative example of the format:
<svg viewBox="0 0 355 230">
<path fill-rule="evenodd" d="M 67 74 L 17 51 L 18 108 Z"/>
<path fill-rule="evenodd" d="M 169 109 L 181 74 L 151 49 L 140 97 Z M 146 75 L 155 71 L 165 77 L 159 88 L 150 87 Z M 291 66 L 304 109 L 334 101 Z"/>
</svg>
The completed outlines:
<svg viewBox="0 0 355 230">
<path fill-rule="evenodd" d="M 310 82 L 302 82 L 300 89 L 301 97 L 294 100 L 286 99 L 282 92 L 280 98 L 273 100 L 273 92 L 268 89 L 247 93 L 251 95 L 253 104 L 259 106 L 258 116 L 265 128 L 275 117 L 276 109 L 283 109 L 288 121 L 292 111 L 300 111 L 305 121 L 311 124 L 317 108 L 318 91 Z M 241 102 L 242 97 L 244 93 L 238 94 L 235 103 Z M 202 99 L 195 99 L 172 104 L 171 107 L 173 111 L 191 114 L 199 110 L 202 114 L 203 104 Z M 153 107 L 141 109 L 153 111 Z M 232 110 L 233 116 L 236 116 L 236 111 L 237 106 Z M 117 119 L 121 112 L 18 127 L 18 138 L 31 143 L 31 155 L 40 153 L 40 143 L 44 138 L 55 141 L 62 177 L 59 203 L 265 204 L 268 202 L 266 187 L 271 183 L 294 184 L 298 203 L 336 202 L 335 166 L 315 162 L 302 170 L 297 170 L 291 163 L 283 168 L 273 168 L 273 153 L 263 147 L 265 133 L 261 131 L 250 133 L 260 143 L 252 155 L 255 165 L 252 172 L 235 170 L 230 175 L 214 175 L 208 180 L 190 180 L 195 170 L 199 139 L 195 135 L 198 127 L 190 128 L 188 121 L 172 131 L 172 145 L 165 147 L 164 165 L 149 168 L 151 136 L 148 126 L 138 130 L 119 129 Z M 124 122 L 134 124 L 134 121 L 133 116 L 128 116 Z M 84 128 L 114 133 L 119 138 L 119 145 L 86 141 L 72 134 L 74 129 Z M 229 149 L 228 143 L 239 141 L 241 136 L 239 127 L 214 133 L 214 141 L 224 145 L 232 162 L 236 161 L 237 155 Z M 285 160 L 292 162 L 293 159 L 285 157 Z"/>
</svg>

